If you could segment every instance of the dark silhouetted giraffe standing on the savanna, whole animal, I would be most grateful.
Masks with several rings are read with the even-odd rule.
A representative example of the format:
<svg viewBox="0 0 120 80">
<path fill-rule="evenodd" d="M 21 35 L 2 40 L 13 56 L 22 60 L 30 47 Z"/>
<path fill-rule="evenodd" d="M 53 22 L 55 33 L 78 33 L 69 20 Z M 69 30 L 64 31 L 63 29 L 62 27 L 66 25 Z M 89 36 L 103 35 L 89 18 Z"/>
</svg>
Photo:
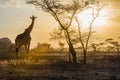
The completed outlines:
<svg viewBox="0 0 120 80">
<path fill-rule="evenodd" d="M 32 19 L 32 22 L 28 28 L 25 29 L 25 31 L 22 34 L 17 35 L 15 39 L 15 45 L 16 45 L 16 56 L 18 56 L 19 50 L 21 46 L 25 46 L 26 53 L 29 52 L 30 48 L 30 42 L 31 42 L 31 36 L 30 33 L 34 26 L 34 21 L 37 17 L 32 16 L 30 19 Z"/>
</svg>

